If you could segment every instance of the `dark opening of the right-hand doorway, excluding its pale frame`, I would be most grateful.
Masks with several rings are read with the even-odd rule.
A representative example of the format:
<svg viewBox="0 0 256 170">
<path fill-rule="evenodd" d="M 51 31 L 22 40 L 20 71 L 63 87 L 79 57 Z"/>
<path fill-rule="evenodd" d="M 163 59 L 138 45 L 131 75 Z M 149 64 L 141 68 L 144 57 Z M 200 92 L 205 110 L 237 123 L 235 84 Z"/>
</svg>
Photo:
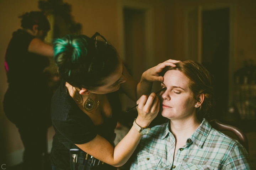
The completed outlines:
<svg viewBox="0 0 256 170">
<path fill-rule="evenodd" d="M 202 65 L 214 76 L 215 116 L 221 119 L 229 99 L 229 8 L 202 10 Z"/>
</svg>

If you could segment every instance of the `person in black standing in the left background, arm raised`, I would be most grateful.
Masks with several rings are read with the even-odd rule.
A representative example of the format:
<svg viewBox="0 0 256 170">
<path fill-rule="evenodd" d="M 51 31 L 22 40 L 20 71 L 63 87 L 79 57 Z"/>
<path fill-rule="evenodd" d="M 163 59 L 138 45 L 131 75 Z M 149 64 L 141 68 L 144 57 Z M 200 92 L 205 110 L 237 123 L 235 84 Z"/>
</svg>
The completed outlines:
<svg viewBox="0 0 256 170">
<path fill-rule="evenodd" d="M 43 70 L 53 57 L 53 47 L 43 42 L 50 24 L 43 12 L 21 15 L 21 29 L 12 34 L 5 54 L 8 89 L 4 112 L 20 133 L 25 151 L 23 169 L 41 169 L 42 154 L 47 149 L 50 121 L 48 82 Z"/>
</svg>

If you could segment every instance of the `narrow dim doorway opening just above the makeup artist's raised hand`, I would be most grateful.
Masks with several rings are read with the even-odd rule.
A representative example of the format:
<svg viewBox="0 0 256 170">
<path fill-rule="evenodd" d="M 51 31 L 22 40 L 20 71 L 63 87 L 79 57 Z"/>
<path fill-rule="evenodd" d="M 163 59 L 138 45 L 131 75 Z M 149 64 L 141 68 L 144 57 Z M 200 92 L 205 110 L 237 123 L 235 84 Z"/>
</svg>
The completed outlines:
<svg viewBox="0 0 256 170">
<path fill-rule="evenodd" d="M 132 77 L 140 81 L 146 70 L 145 61 L 145 12 L 124 8 L 124 45 L 126 67 Z"/>
</svg>

